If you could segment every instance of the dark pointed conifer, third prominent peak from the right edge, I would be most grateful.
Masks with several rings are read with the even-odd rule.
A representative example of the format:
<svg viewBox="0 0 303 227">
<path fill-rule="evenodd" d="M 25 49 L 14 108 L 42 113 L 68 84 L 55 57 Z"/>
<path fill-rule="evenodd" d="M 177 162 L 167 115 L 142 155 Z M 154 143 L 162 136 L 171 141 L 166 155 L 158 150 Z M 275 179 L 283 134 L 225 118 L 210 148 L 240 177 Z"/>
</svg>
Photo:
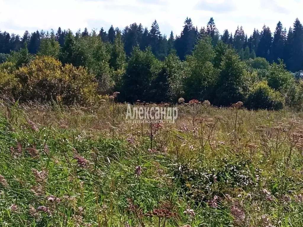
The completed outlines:
<svg viewBox="0 0 303 227">
<path fill-rule="evenodd" d="M 267 61 L 271 61 L 271 43 L 272 36 L 269 27 L 263 26 L 261 31 L 260 42 L 258 44 L 257 56 L 265 58 Z"/>
</svg>

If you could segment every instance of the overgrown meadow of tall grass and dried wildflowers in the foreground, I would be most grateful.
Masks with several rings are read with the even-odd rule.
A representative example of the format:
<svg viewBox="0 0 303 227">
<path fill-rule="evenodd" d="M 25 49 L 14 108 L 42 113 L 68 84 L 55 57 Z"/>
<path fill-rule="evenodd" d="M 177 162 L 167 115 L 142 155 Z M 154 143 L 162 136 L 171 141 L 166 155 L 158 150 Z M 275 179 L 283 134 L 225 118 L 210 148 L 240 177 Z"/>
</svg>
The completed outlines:
<svg viewBox="0 0 303 227">
<path fill-rule="evenodd" d="M 0 225 L 303 225 L 302 113 L 177 107 L 127 124 L 113 100 L 1 102 Z"/>
</svg>

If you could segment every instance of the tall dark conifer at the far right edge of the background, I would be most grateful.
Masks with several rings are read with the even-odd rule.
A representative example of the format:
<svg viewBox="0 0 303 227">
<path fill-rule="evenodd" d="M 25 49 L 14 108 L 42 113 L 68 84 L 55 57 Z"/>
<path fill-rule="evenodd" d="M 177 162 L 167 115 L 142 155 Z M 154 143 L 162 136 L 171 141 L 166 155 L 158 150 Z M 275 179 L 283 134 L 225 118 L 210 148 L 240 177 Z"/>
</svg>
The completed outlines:
<svg viewBox="0 0 303 227">
<path fill-rule="evenodd" d="M 297 72 L 302 69 L 303 64 L 303 28 L 297 18 L 294 23 L 291 47 L 291 71 Z"/>
</svg>

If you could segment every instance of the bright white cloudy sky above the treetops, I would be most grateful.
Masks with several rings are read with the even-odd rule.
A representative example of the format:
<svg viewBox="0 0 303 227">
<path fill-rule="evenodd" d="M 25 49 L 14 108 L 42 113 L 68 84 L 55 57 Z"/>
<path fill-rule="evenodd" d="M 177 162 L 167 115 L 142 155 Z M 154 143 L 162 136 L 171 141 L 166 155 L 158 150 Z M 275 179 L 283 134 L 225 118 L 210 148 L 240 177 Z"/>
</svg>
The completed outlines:
<svg viewBox="0 0 303 227">
<path fill-rule="evenodd" d="M 274 32 L 278 21 L 287 30 L 297 17 L 303 23 L 302 9 L 303 0 L 0 0 L 0 30 L 21 36 L 25 30 L 56 31 L 59 26 L 107 31 L 134 22 L 150 29 L 156 19 L 161 34 L 169 36 L 171 31 L 180 35 L 186 17 L 199 29 L 213 17 L 220 34 L 243 26 L 250 36 L 264 24 Z"/>
</svg>

